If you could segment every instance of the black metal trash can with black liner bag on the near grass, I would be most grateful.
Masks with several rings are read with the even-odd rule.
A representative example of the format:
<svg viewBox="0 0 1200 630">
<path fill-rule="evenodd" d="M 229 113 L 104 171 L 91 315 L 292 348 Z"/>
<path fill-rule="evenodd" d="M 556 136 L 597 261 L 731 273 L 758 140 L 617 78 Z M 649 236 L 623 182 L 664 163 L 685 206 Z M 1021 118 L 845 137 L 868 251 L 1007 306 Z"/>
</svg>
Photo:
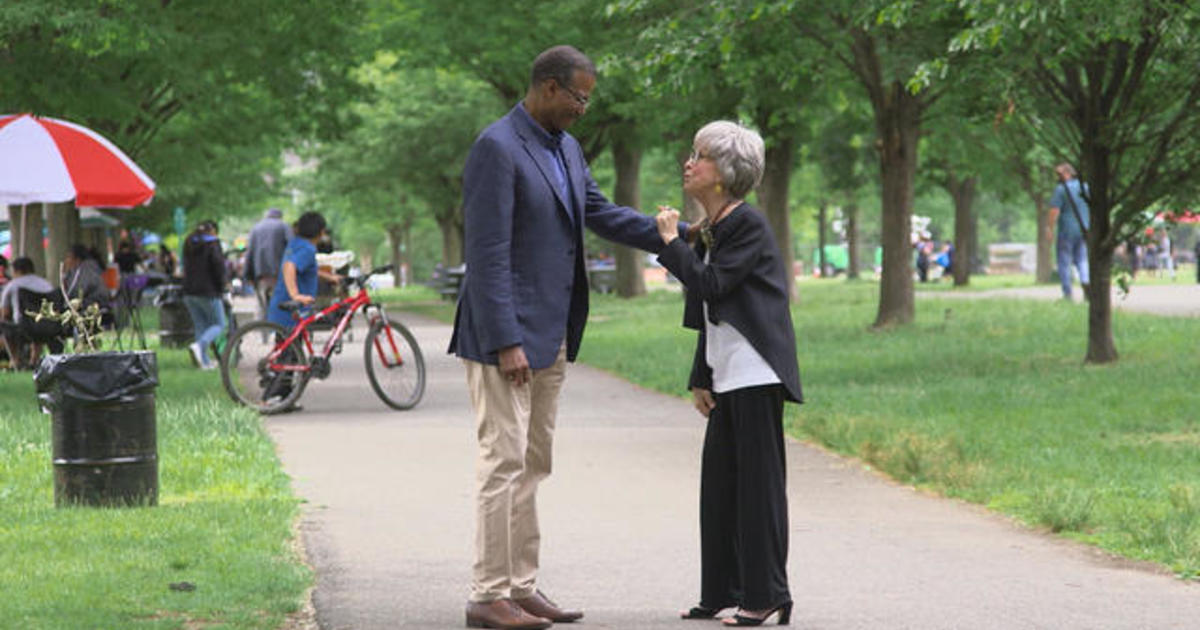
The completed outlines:
<svg viewBox="0 0 1200 630">
<path fill-rule="evenodd" d="M 52 415 L 55 505 L 156 505 L 155 354 L 49 355 L 34 380 Z"/>
</svg>

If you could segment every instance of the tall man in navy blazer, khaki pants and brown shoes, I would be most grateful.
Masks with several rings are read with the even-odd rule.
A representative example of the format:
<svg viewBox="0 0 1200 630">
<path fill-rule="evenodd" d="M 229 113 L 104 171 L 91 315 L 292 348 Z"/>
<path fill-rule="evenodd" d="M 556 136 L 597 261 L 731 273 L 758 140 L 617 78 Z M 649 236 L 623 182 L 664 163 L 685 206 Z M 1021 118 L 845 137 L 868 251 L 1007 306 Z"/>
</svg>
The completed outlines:
<svg viewBox="0 0 1200 630">
<path fill-rule="evenodd" d="M 536 587 L 538 484 L 550 475 L 558 394 L 588 313 L 583 227 L 662 248 L 653 217 L 608 202 L 565 132 L 594 86 L 586 55 L 545 50 L 524 100 L 479 134 L 463 170 L 467 275 L 450 352 L 467 366 L 478 422 L 472 628 L 547 628 L 583 616 Z"/>
</svg>

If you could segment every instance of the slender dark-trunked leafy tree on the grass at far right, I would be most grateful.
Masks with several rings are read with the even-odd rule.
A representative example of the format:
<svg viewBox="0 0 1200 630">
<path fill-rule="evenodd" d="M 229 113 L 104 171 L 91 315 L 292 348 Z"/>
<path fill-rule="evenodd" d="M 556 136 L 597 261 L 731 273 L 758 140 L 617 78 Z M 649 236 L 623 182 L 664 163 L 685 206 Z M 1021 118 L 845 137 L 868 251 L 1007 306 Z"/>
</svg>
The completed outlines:
<svg viewBox="0 0 1200 630">
<path fill-rule="evenodd" d="M 1145 227 L 1147 210 L 1200 187 L 1200 11 L 1141 0 L 962 6 L 970 28 L 952 50 L 994 53 L 1014 116 L 1088 185 L 1086 360 L 1114 361 L 1114 250 Z"/>
</svg>

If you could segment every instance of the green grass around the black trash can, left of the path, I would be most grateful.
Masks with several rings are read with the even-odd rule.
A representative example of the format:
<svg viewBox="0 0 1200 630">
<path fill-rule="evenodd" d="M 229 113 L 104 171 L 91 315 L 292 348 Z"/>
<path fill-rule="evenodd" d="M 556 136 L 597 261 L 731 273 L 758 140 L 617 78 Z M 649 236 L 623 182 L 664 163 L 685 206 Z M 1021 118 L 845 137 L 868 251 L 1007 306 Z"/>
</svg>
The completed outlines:
<svg viewBox="0 0 1200 630">
<path fill-rule="evenodd" d="M 30 373 L 0 374 L 0 625 L 265 630 L 300 607 L 298 500 L 260 418 L 186 350 L 157 356 L 155 508 L 55 509 L 50 416 Z"/>
</svg>

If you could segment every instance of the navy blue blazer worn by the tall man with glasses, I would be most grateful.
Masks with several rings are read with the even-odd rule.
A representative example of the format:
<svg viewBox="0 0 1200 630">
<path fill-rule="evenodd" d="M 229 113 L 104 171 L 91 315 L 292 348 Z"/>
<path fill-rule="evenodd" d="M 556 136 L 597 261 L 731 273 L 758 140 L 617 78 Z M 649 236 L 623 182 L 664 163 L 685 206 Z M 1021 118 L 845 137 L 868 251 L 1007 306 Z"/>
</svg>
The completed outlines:
<svg viewBox="0 0 1200 630">
<path fill-rule="evenodd" d="M 529 367 L 541 370 L 565 338 L 574 361 L 588 314 L 583 226 L 624 245 L 662 248 L 654 218 L 605 198 L 580 143 L 565 132 L 560 142 L 570 199 L 545 149 L 552 137 L 523 104 L 475 139 L 463 169 L 467 275 L 450 353 L 497 365 L 502 348 L 520 344 Z"/>
</svg>

